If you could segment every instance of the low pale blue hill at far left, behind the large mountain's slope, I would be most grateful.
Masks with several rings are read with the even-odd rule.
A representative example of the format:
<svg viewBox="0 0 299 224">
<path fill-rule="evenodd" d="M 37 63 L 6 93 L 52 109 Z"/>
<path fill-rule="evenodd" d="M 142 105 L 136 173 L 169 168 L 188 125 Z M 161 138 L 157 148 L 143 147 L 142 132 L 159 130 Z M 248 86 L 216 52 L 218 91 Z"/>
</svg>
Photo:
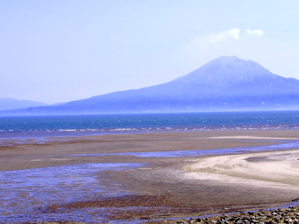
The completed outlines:
<svg viewBox="0 0 299 224">
<path fill-rule="evenodd" d="M 13 110 L 19 108 L 28 108 L 28 107 L 40 107 L 47 106 L 46 103 L 30 101 L 30 100 L 18 100 L 11 98 L 0 98 L 0 111 L 4 110 Z"/>
</svg>

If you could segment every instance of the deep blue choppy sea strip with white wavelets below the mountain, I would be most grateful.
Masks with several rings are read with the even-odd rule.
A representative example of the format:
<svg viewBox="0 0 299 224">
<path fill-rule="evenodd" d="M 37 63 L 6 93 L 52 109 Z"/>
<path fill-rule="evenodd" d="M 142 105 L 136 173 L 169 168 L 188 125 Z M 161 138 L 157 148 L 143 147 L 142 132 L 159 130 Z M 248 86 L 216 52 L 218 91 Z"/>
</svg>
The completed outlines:
<svg viewBox="0 0 299 224">
<path fill-rule="evenodd" d="M 299 129 L 299 111 L 0 117 L 0 140 L 19 139 L 20 143 L 26 139 L 35 139 L 36 142 L 49 141 L 49 139 L 45 139 L 47 137 L 79 137 L 166 131 L 273 129 Z"/>
</svg>

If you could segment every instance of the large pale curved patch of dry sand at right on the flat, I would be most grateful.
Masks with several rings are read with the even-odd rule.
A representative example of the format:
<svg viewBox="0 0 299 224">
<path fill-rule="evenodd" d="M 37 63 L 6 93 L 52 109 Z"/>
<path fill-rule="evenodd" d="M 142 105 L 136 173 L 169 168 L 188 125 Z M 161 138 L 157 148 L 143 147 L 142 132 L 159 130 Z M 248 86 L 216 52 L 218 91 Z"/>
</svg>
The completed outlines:
<svg viewBox="0 0 299 224">
<path fill-rule="evenodd" d="M 299 150 L 201 158 L 185 165 L 188 179 L 298 190 Z"/>
</svg>

